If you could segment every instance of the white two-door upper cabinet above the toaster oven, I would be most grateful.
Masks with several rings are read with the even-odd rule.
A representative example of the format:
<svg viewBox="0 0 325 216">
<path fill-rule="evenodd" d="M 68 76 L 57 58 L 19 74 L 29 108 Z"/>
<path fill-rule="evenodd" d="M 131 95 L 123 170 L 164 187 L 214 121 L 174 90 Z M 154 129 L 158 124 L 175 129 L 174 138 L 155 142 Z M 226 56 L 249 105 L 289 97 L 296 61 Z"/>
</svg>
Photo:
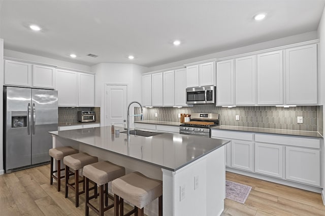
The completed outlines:
<svg viewBox="0 0 325 216">
<path fill-rule="evenodd" d="M 93 107 L 94 75 L 71 70 L 56 70 L 55 90 L 60 107 Z"/>
</svg>

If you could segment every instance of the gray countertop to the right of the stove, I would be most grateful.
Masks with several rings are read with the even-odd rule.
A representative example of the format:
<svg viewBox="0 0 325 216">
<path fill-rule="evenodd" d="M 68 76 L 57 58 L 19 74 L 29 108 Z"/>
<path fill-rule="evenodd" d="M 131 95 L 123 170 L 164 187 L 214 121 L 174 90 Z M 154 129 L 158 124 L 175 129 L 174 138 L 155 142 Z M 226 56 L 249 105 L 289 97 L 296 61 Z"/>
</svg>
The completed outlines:
<svg viewBox="0 0 325 216">
<path fill-rule="evenodd" d="M 301 136 L 310 138 L 323 138 L 318 132 L 311 131 L 296 131 L 289 129 L 271 129 L 261 127 L 243 127 L 243 126 L 226 126 L 220 125 L 212 127 L 212 129 L 222 129 L 228 131 L 240 131 L 240 132 L 252 132 L 252 133 L 264 133 L 264 134 L 278 134 L 278 135 L 290 135 L 290 136 Z"/>
</svg>

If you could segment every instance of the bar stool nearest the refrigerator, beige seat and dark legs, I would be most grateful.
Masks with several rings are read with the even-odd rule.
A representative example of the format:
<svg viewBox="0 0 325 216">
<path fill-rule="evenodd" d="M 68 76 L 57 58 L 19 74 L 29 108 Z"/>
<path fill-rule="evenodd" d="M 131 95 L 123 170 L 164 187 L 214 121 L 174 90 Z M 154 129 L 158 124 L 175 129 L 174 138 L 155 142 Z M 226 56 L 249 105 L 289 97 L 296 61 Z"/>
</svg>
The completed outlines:
<svg viewBox="0 0 325 216">
<path fill-rule="evenodd" d="M 63 157 L 71 154 L 77 154 L 79 151 L 72 148 L 71 146 L 57 147 L 49 150 L 49 155 L 51 157 L 51 171 L 50 171 L 50 185 L 53 185 L 53 179 L 57 181 L 57 191 L 61 190 L 61 179 L 65 176 L 61 176 L 61 160 Z M 57 161 L 57 169 L 53 171 L 53 158 Z M 57 177 L 53 174 L 57 172 Z"/>
</svg>

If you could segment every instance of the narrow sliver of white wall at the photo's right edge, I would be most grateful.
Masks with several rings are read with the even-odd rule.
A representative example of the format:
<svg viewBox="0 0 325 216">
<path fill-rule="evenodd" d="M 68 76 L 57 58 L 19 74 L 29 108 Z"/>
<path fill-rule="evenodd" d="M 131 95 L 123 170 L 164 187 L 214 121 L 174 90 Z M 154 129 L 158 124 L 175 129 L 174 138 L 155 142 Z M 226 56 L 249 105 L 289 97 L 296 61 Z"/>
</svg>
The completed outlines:
<svg viewBox="0 0 325 216">
<path fill-rule="evenodd" d="M 325 10 L 323 10 L 322 17 L 320 19 L 319 25 L 318 25 L 318 37 L 319 37 L 319 100 L 320 100 L 320 105 L 325 104 L 325 61 L 323 60 L 322 57 L 325 56 Z M 323 122 L 325 122 L 325 109 L 323 107 Z M 324 134 L 324 127 L 323 127 L 323 134 Z M 325 151 L 323 151 L 323 158 L 325 158 Z M 325 163 L 323 162 L 323 188 L 325 186 Z M 325 191 L 324 189 L 322 190 L 322 198 L 323 202 L 325 201 Z M 325 204 L 325 202 L 324 202 Z"/>
</svg>

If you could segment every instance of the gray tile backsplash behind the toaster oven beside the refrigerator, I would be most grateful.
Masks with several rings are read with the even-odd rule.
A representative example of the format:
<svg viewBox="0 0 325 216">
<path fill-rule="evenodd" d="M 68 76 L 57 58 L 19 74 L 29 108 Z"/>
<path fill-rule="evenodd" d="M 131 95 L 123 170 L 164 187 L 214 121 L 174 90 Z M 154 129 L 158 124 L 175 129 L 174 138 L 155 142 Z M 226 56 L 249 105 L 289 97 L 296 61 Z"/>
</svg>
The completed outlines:
<svg viewBox="0 0 325 216">
<path fill-rule="evenodd" d="M 74 123 L 78 122 L 77 112 L 82 110 L 94 110 L 96 121 L 101 121 L 100 107 L 59 107 L 58 108 L 58 123 Z"/>
</svg>

